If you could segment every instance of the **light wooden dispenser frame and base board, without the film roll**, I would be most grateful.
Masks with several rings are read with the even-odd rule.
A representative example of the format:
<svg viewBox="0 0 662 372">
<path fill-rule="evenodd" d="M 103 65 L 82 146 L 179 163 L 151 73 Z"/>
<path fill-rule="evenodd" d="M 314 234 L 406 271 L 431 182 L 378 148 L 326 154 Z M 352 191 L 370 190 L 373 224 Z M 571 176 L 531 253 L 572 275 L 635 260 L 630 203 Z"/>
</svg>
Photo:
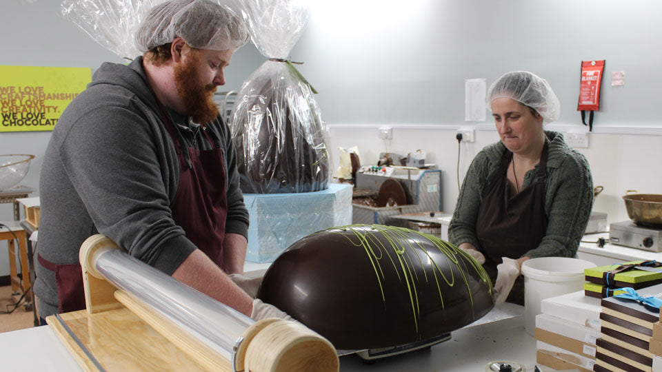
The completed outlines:
<svg viewBox="0 0 662 372">
<path fill-rule="evenodd" d="M 299 322 L 277 318 L 259 320 L 248 327 L 232 351 L 232 360 L 226 360 L 193 335 L 181 331 L 174 322 L 163 318 L 157 311 L 126 291 L 117 289 L 103 278 L 94 262 L 101 254 L 113 249 L 121 248 L 103 235 L 90 236 L 83 242 L 79 258 L 87 308 L 61 314 L 58 316 L 60 320 L 56 316 L 46 318 L 48 324 L 86 371 L 101 371 L 100 364 L 106 363 L 112 364 L 102 367 L 108 372 L 116 369 L 117 371 L 185 369 L 223 372 L 339 371 L 337 352 L 328 340 Z M 93 324 L 97 324 L 95 323 L 97 320 L 99 324 L 110 327 L 92 327 Z M 128 324 L 132 325 L 128 326 Z M 72 329 L 76 331 L 72 333 Z M 137 330 L 135 334 L 132 333 L 134 329 Z M 96 331 L 106 333 L 93 334 Z M 124 335 L 123 340 L 109 347 L 109 349 L 123 347 L 122 351 L 111 350 L 106 355 L 106 348 L 98 347 L 99 342 L 97 345 L 94 344 L 94 340 L 105 340 L 112 338 L 112 335 L 123 333 L 128 334 Z M 83 339 L 88 340 L 87 345 L 81 344 Z M 128 355 L 132 352 L 134 356 Z M 126 355 L 129 360 L 117 360 L 118 354 Z"/>
</svg>

